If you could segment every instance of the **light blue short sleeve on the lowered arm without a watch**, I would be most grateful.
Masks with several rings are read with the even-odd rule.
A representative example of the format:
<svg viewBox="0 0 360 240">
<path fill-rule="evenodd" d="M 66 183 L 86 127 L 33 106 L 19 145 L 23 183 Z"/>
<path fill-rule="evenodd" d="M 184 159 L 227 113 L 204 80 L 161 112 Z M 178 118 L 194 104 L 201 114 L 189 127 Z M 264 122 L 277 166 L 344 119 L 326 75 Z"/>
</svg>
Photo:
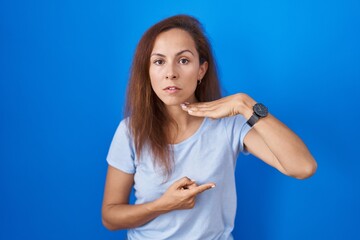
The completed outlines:
<svg viewBox="0 0 360 240">
<path fill-rule="evenodd" d="M 107 155 L 107 162 L 110 166 L 123 172 L 135 173 L 135 151 L 133 140 L 129 134 L 127 121 L 122 120 L 116 129 Z"/>
</svg>

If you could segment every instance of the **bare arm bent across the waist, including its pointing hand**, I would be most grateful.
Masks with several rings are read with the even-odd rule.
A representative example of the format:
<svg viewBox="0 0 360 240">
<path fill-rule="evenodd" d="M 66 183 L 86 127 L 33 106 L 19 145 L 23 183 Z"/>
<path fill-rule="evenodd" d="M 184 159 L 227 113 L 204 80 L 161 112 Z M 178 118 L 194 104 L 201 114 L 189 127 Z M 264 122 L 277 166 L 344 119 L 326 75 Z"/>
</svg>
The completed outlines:
<svg viewBox="0 0 360 240">
<path fill-rule="evenodd" d="M 213 183 L 197 186 L 195 182 L 184 177 L 172 184 L 164 195 L 154 202 L 130 205 L 129 196 L 133 183 L 133 174 L 108 167 L 102 221 L 109 230 L 138 227 L 169 211 L 192 208 L 196 195 L 214 186 Z"/>
</svg>

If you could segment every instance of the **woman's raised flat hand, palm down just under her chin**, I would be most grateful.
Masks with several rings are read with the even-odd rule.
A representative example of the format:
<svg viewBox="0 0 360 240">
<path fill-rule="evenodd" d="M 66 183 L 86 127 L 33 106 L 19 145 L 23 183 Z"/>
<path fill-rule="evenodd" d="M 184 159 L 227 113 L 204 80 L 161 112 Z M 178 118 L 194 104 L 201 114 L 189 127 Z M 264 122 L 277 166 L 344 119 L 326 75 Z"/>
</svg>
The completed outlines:
<svg viewBox="0 0 360 240">
<path fill-rule="evenodd" d="M 255 100 L 244 93 L 237 93 L 211 102 L 184 103 L 181 108 L 192 116 L 224 118 L 242 114 L 250 118 Z"/>
</svg>

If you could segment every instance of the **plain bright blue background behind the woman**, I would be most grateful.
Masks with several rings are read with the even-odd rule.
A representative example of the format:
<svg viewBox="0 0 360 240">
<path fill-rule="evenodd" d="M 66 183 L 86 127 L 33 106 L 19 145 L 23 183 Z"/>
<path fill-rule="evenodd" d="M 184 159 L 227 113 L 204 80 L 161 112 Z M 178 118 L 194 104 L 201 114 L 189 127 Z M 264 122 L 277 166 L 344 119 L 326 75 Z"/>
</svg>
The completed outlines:
<svg viewBox="0 0 360 240">
<path fill-rule="evenodd" d="M 360 1 L 1 1 L 0 239 L 123 239 L 101 224 L 105 157 L 143 32 L 203 22 L 225 94 L 307 143 L 299 181 L 237 164 L 236 239 L 360 239 Z"/>
</svg>

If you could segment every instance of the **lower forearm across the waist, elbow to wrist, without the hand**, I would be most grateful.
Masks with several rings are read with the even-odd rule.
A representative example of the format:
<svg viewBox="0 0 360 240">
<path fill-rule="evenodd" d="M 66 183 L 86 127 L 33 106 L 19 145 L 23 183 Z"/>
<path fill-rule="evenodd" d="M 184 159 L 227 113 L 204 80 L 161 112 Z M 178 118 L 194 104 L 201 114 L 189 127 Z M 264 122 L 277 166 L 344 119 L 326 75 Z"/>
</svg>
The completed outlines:
<svg viewBox="0 0 360 240">
<path fill-rule="evenodd" d="M 155 202 L 145 204 L 108 204 L 102 209 L 102 221 L 109 230 L 139 227 L 167 211 Z"/>
</svg>

